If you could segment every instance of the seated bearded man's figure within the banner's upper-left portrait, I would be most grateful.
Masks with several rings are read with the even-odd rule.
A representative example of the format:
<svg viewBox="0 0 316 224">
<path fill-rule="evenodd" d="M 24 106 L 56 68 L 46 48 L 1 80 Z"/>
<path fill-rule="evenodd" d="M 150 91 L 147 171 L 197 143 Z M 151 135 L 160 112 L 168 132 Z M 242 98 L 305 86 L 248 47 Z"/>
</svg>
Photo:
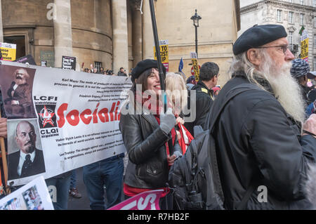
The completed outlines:
<svg viewBox="0 0 316 224">
<path fill-rule="evenodd" d="M 29 117 L 29 114 L 32 114 L 31 87 L 27 84 L 27 79 L 29 79 L 27 70 L 23 68 L 15 70 L 13 81 L 7 91 L 6 108 L 8 114 L 16 118 Z"/>
</svg>

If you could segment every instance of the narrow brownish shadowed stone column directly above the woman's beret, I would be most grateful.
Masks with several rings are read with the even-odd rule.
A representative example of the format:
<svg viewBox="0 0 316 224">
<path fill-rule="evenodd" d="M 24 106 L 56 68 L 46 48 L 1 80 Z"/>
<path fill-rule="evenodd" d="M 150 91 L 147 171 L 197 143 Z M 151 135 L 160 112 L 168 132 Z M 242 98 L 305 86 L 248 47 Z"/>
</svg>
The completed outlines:
<svg viewBox="0 0 316 224">
<path fill-rule="evenodd" d="M 140 13 L 140 0 L 134 1 L 133 7 L 133 67 L 143 60 L 142 14 Z"/>
</svg>

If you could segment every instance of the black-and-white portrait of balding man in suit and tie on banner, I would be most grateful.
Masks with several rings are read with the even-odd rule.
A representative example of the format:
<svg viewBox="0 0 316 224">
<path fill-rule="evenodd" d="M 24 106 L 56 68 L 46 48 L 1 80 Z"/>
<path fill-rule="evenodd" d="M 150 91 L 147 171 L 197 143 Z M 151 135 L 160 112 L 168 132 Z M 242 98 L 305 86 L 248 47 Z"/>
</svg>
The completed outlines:
<svg viewBox="0 0 316 224">
<path fill-rule="evenodd" d="M 8 130 L 8 183 L 45 173 L 37 119 L 8 120 Z"/>
</svg>

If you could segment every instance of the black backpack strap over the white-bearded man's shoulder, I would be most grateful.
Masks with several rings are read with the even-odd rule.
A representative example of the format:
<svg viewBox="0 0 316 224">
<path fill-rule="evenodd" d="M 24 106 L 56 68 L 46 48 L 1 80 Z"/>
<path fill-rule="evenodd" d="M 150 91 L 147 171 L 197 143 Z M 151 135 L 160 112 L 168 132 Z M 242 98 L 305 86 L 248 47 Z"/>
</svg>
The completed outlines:
<svg viewBox="0 0 316 224">
<path fill-rule="evenodd" d="M 250 91 L 253 89 L 257 89 L 257 90 L 261 90 L 261 88 L 259 88 L 258 86 L 254 85 L 254 84 L 240 84 L 238 86 L 235 86 L 235 88 L 230 89 L 230 91 L 228 91 L 228 93 L 226 93 L 225 97 L 227 95 L 230 94 L 230 96 L 224 101 L 223 105 L 220 106 L 220 109 L 218 111 L 216 111 L 216 116 L 214 117 L 214 119 L 211 121 L 211 125 L 209 126 L 209 134 L 210 134 L 210 141 L 209 143 L 211 143 L 211 149 L 210 152 L 208 152 L 208 157 L 209 159 L 207 159 L 207 161 L 209 162 L 209 166 L 212 167 L 213 173 L 213 183 L 214 183 L 214 188 L 216 188 L 216 192 L 219 195 L 219 199 L 216 199 L 218 202 L 222 203 L 224 202 L 224 194 L 223 194 L 223 187 L 221 185 L 220 182 L 220 173 L 219 173 L 219 169 L 218 169 L 218 161 L 217 161 L 217 156 L 216 156 L 216 145 L 214 140 L 212 140 L 213 135 L 212 135 L 212 131 L 213 131 L 213 126 L 216 124 L 217 119 L 220 117 L 221 112 L 223 111 L 224 107 L 228 104 L 228 102 L 230 100 L 232 100 L 232 98 L 235 98 L 235 96 L 239 95 L 240 93 L 244 93 L 245 91 Z M 214 113 L 214 107 L 211 108 L 211 113 Z M 210 116 L 209 116 L 210 117 Z M 244 205 L 246 204 L 246 202 L 248 202 L 248 199 L 251 195 L 252 192 L 254 192 L 254 188 L 255 185 L 251 183 L 251 187 L 249 187 L 249 189 L 246 192 L 246 195 L 244 196 L 244 198 L 242 199 L 242 203 L 239 205 L 238 209 L 242 209 L 244 208 Z M 212 204 L 212 201 L 214 200 L 213 197 L 211 197 L 211 195 L 207 194 L 206 196 L 206 206 L 208 206 L 209 204 Z"/>
</svg>

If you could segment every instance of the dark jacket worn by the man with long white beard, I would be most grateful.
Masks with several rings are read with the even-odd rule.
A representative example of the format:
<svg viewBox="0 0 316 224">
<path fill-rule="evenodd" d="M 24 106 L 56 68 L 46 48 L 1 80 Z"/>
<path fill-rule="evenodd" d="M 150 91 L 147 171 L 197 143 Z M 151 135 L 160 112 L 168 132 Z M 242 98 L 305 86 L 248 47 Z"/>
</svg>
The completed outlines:
<svg viewBox="0 0 316 224">
<path fill-rule="evenodd" d="M 210 120 L 228 91 L 244 83 L 249 81 L 240 75 L 225 84 L 213 103 Z M 230 100 L 213 129 L 228 209 L 237 208 L 254 180 L 256 187 L 246 209 L 310 208 L 304 186 L 308 163 L 315 162 L 316 139 L 301 136 L 300 129 L 267 91 L 254 89 Z M 260 185 L 266 187 L 268 202 L 260 202 Z"/>
</svg>

